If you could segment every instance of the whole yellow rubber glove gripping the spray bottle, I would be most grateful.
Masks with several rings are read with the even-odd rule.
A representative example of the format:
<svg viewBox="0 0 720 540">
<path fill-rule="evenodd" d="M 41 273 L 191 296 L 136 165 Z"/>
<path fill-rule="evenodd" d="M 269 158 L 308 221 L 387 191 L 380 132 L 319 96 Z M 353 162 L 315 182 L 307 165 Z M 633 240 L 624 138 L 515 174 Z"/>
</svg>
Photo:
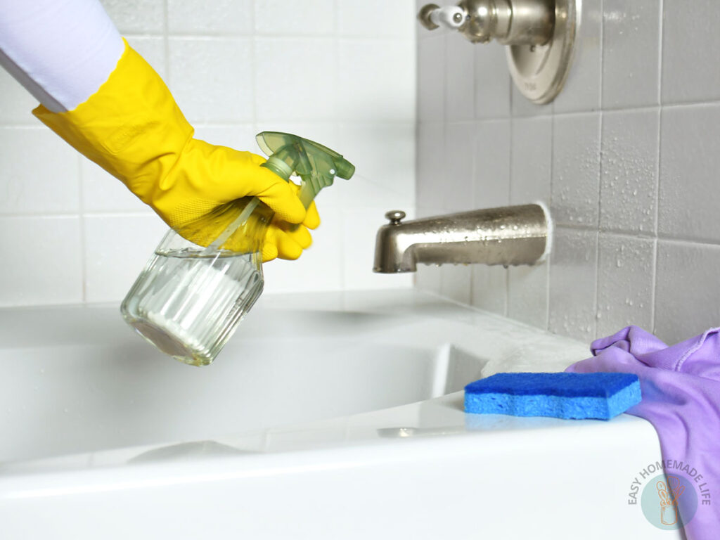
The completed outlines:
<svg viewBox="0 0 720 540">
<path fill-rule="evenodd" d="M 266 261 L 299 257 L 311 243 L 307 228 L 320 223 L 314 204 L 307 212 L 302 206 L 295 184 L 261 167 L 264 158 L 193 138 L 163 80 L 127 42 L 108 80 L 86 102 L 59 113 L 40 105 L 33 114 L 201 246 L 226 225 L 212 220 L 212 211 L 242 197 L 256 195 L 275 212 L 264 239 Z M 290 231 L 288 224 L 301 222 Z"/>
</svg>

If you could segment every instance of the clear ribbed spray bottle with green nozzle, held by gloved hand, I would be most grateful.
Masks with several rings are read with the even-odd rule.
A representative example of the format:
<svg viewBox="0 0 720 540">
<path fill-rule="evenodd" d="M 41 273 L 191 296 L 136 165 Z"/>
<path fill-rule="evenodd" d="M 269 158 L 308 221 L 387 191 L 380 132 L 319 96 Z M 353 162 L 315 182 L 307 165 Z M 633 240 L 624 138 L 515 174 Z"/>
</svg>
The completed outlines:
<svg viewBox="0 0 720 540">
<path fill-rule="evenodd" d="M 337 152 L 297 135 L 261 132 L 256 140 L 269 156 L 262 166 L 285 181 L 300 176 L 305 208 L 336 176 L 355 172 Z M 122 317 L 163 353 L 207 366 L 263 290 L 261 252 L 272 217 L 260 199 L 243 197 L 168 230 L 122 301 Z"/>
</svg>

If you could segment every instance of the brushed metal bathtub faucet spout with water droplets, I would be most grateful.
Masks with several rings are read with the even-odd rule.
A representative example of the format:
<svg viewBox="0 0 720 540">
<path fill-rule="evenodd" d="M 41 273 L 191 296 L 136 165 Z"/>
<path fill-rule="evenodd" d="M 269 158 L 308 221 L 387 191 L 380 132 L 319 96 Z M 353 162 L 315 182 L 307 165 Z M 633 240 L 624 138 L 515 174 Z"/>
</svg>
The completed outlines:
<svg viewBox="0 0 720 540">
<path fill-rule="evenodd" d="M 428 264 L 537 264 L 549 252 L 551 221 L 540 204 L 472 210 L 402 222 L 385 214 L 377 231 L 373 271 L 414 272 Z"/>
</svg>

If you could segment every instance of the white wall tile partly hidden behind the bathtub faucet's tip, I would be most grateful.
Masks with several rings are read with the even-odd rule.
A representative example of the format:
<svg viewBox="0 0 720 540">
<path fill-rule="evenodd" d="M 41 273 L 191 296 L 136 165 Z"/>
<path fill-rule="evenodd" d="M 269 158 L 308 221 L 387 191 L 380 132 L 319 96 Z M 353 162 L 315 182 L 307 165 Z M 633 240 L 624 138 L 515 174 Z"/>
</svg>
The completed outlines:
<svg viewBox="0 0 720 540">
<path fill-rule="evenodd" d="M 343 212 L 343 283 L 346 288 L 408 289 L 413 274 L 377 274 L 372 271 L 375 235 L 387 223 L 387 208 L 348 209 Z M 407 219 L 412 219 L 408 215 Z"/>
</svg>

